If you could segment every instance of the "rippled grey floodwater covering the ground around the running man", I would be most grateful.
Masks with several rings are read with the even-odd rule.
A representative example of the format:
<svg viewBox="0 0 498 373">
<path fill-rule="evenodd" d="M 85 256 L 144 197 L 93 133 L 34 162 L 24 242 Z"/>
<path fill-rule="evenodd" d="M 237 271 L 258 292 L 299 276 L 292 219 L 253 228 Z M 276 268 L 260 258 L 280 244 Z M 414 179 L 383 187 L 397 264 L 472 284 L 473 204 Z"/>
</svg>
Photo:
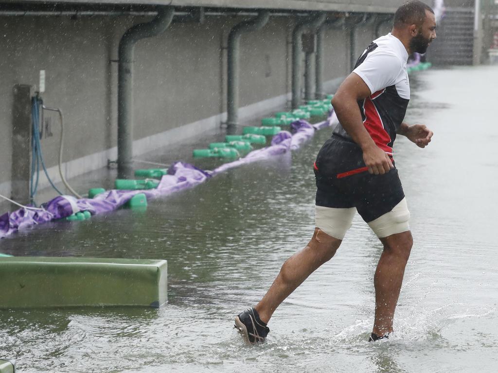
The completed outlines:
<svg viewBox="0 0 498 373">
<path fill-rule="evenodd" d="M 265 344 L 245 346 L 233 328 L 311 237 L 324 129 L 291 156 L 153 200 L 145 213 L 1 240 L 14 255 L 167 259 L 169 303 L 0 311 L 0 357 L 17 356 L 19 372 L 495 372 L 498 68 L 411 81 L 406 121 L 435 135 L 426 149 L 395 145 L 415 244 L 389 340 L 367 342 L 381 245 L 358 216 L 336 257 L 275 312 Z"/>
</svg>

